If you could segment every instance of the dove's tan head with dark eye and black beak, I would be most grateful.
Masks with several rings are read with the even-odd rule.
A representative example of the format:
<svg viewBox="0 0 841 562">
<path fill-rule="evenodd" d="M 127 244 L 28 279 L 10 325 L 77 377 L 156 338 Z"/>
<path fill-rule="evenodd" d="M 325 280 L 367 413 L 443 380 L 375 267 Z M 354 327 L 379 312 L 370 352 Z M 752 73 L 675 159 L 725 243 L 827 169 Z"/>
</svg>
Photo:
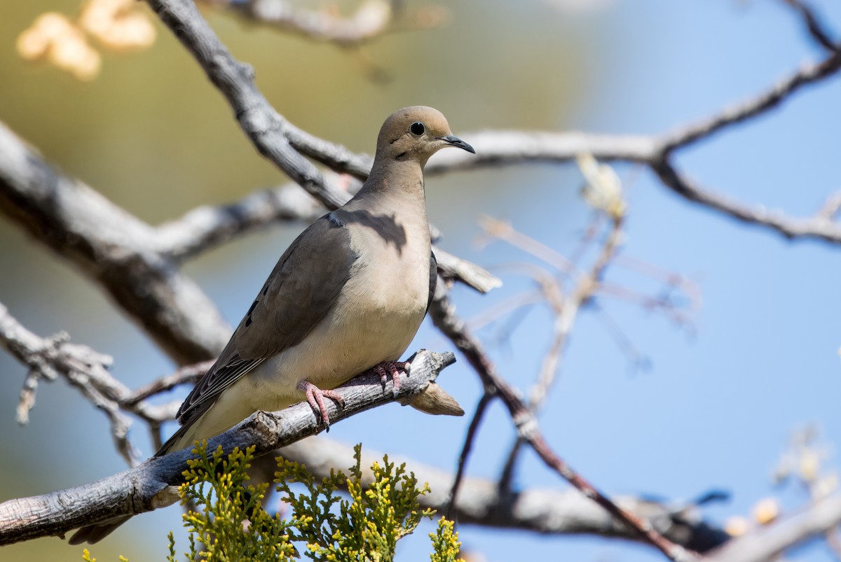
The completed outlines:
<svg viewBox="0 0 841 562">
<path fill-rule="evenodd" d="M 385 120 L 379 129 L 375 160 L 415 160 L 422 166 L 447 146 L 476 154 L 472 146 L 452 134 L 440 111 L 416 105 L 399 109 Z"/>
</svg>

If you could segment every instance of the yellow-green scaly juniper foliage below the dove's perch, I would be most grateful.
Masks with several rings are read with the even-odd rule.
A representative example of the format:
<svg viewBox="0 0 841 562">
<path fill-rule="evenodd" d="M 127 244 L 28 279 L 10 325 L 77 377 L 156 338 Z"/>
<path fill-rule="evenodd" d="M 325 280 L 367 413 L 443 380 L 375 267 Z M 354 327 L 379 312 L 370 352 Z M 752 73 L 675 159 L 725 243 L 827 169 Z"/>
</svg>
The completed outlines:
<svg viewBox="0 0 841 562">
<path fill-rule="evenodd" d="M 205 443 L 197 444 L 198 458 L 188 461 L 185 483 L 179 488 L 182 503 L 191 502 L 198 510 L 183 516 L 189 531 L 184 555 L 207 562 L 291 561 L 298 557 L 294 546 L 298 544 L 306 557 L 317 562 L 393 560 L 397 541 L 434 513 L 421 510 L 417 501 L 429 486 L 419 488 L 414 473 L 385 456 L 382 465 L 375 462 L 371 467 L 373 482 L 365 490 L 362 445 L 354 450 L 356 464 L 349 475 L 331 471 L 321 481 L 303 465 L 278 458 L 277 490 L 291 508 L 291 516 L 283 519 L 262 507 L 268 484 L 246 485 L 253 447 L 245 452 L 234 449 L 225 456 L 221 448 L 208 454 Z M 341 487 L 346 487 L 349 498 L 339 495 Z M 430 538 L 432 562 L 457 561 L 460 544 L 452 522 L 441 519 Z M 95 562 L 87 550 L 82 559 Z M 167 560 L 177 560 L 172 533 Z"/>
</svg>

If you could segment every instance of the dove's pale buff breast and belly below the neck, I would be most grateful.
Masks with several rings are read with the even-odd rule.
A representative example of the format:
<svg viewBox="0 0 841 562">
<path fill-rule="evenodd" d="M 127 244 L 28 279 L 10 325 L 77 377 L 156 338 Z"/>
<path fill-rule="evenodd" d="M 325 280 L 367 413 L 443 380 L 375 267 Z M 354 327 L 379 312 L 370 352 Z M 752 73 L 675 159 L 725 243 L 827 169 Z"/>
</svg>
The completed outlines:
<svg viewBox="0 0 841 562">
<path fill-rule="evenodd" d="M 335 213 L 350 225 L 353 210 Z M 399 360 L 426 314 L 429 297 L 431 244 L 426 213 L 373 218 L 379 228 L 351 228 L 351 248 L 359 256 L 336 306 L 302 342 L 267 360 L 254 377 L 259 387 L 253 400 L 268 409 L 278 405 L 299 381 L 334 388 L 383 361 Z M 365 223 L 372 218 L 365 217 Z M 278 378 L 285 383 L 278 385 Z M 291 384 L 294 383 L 294 384 Z M 303 392 L 295 391 L 294 400 Z"/>
</svg>

